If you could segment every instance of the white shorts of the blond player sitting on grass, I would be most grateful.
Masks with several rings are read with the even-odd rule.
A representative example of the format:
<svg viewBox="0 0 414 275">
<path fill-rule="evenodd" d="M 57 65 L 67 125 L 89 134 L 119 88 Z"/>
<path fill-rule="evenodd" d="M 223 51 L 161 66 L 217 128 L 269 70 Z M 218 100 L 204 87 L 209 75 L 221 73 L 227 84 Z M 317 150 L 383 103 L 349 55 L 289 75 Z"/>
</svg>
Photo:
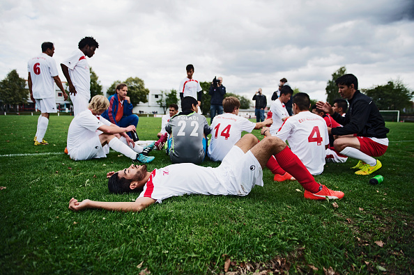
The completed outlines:
<svg viewBox="0 0 414 275">
<path fill-rule="evenodd" d="M 107 149 L 109 149 L 109 146 Z M 73 160 L 99 159 L 101 157 L 107 157 L 105 151 L 97 135 L 93 139 L 85 141 L 77 148 L 69 150 L 68 155 Z"/>
</svg>

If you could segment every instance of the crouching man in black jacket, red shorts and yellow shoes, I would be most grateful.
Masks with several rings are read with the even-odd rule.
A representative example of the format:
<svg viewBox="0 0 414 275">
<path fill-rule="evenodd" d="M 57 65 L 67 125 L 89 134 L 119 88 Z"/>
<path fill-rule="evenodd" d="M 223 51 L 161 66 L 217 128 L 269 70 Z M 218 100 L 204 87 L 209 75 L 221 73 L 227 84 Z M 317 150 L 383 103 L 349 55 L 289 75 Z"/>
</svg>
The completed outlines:
<svg viewBox="0 0 414 275">
<path fill-rule="evenodd" d="M 349 108 L 345 117 L 335 113 L 328 102 L 316 102 L 316 107 L 329 113 L 337 123 L 344 127 L 328 129 L 330 134 L 339 136 L 335 139 L 335 150 L 342 155 L 359 159 L 352 168 L 360 169 L 357 175 L 369 175 L 381 168 L 378 159 L 388 148 L 385 122 L 371 97 L 358 91 L 358 79 L 353 74 L 344 74 L 335 83 L 339 88 L 339 95 L 346 98 Z"/>
</svg>

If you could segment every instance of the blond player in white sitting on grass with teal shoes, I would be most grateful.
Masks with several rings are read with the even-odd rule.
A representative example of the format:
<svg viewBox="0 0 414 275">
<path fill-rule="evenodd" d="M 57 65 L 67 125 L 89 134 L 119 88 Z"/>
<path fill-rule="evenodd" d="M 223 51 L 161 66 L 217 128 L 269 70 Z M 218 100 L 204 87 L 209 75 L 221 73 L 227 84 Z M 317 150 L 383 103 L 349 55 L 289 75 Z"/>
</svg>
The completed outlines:
<svg viewBox="0 0 414 275">
<path fill-rule="evenodd" d="M 100 116 L 109 107 L 109 101 L 103 95 L 95 95 L 88 109 L 80 112 L 70 123 L 68 130 L 68 155 L 74 160 L 106 157 L 109 148 L 121 152 L 132 161 L 148 163 L 154 157 L 140 154 L 146 148 L 135 144 L 125 132 L 135 130 L 134 125 L 118 127 Z M 122 136 L 122 137 L 121 137 Z M 123 139 L 121 141 L 120 139 Z M 127 145 L 128 144 L 128 145 Z M 147 146 L 150 150 L 154 143 Z"/>
</svg>

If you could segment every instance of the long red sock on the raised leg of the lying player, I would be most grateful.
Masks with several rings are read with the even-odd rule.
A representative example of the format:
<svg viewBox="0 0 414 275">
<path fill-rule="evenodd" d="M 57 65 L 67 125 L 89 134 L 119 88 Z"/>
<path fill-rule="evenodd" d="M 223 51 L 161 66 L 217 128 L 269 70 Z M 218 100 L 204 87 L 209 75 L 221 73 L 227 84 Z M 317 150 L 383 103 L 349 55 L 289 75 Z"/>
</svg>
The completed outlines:
<svg viewBox="0 0 414 275">
<path fill-rule="evenodd" d="M 298 182 L 311 193 L 317 193 L 321 184 L 315 182 L 314 177 L 307 171 L 305 165 L 293 154 L 291 149 L 286 146 L 282 151 L 275 155 L 277 163 L 284 171 L 291 174 Z"/>
</svg>

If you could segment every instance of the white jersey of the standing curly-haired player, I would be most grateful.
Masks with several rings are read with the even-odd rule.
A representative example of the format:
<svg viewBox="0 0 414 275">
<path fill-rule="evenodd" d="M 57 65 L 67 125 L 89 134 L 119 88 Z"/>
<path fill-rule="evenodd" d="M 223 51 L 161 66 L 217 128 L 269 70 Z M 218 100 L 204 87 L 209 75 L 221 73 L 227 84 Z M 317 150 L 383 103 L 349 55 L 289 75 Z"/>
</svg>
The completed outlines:
<svg viewBox="0 0 414 275">
<path fill-rule="evenodd" d="M 77 49 L 62 64 L 69 68 L 70 80 L 75 86 L 76 92 L 84 95 L 89 101 L 91 99 L 91 73 L 84 53 Z"/>
</svg>

